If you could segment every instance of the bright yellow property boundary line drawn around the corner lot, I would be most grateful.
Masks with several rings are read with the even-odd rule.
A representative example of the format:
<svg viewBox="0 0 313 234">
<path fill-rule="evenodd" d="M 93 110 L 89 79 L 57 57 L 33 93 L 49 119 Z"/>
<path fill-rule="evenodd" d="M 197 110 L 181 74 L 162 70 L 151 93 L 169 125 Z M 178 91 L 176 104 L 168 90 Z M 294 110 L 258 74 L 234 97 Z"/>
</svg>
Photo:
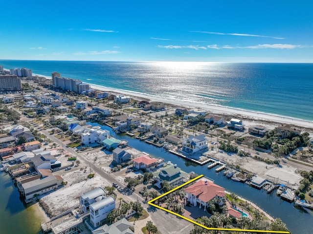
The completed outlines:
<svg viewBox="0 0 313 234">
<path fill-rule="evenodd" d="M 255 232 L 255 233 L 286 233 L 286 234 L 290 234 L 290 232 L 285 232 L 285 231 L 249 230 L 249 229 L 229 229 L 229 228 L 208 228 L 208 227 L 205 227 L 205 226 L 203 226 L 202 224 L 197 223 L 197 222 L 195 222 L 194 220 L 191 220 L 191 219 L 189 219 L 189 218 L 186 218 L 186 217 L 184 217 L 184 216 L 182 216 L 182 215 L 180 215 L 180 214 L 178 214 L 178 213 L 169 211 L 169 210 L 167 210 L 167 209 L 165 209 L 165 208 L 163 208 L 163 207 L 160 207 L 160 206 L 158 206 L 158 205 L 156 205 L 156 204 L 153 204 L 153 202 L 156 201 L 157 199 L 159 199 L 159 198 L 161 198 L 161 197 L 163 197 L 163 196 L 165 196 L 165 195 L 167 195 L 167 194 L 169 194 L 169 193 L 171 193 L 171 192 L 173 192 L 173 191 L 175 191 L 175 190 L 178 190 L 179 188 L 181 188 L 181 187 L 183 187 L 183 186 L 185 186 L 185 185 L 187 185 L 187 184 L 189 184 L 189 183 L 191 183 L 191 182 L 193 182 L 193 181 L 195 181 L 195 180 L 198 180 L 198 179 L 201 178 L 202 176 L 203 176 L 203 175 L 199 175 L 198 177 L 196 177 L 196 178 L 194 178 L 194 179 L 192 179 L 192 180 L 189 180 L 188 182 L 186 182 L 186 183 L 184 183 L 184 184 L 182 184 L 182 185 L 179 185 L 179 186 L 176 187 L 175 189 L 172 189 L 171 191 L 165 192 L 164 194 L 162 194 L 162 195 L 160 195 L 160 196 L 158 196 L 158 197 L 152 199 L 151 201 L 148 201 L 148 204 L 151 205 L 151 206 L 154 206 L 154 207 L 156 207 L 156 208 L 158 208 L 158 209 L 161 209 L 161 210 L 163 210 L 163 211 L 166 211 L 166 212 L 175 214 L 176 216 L 178 216 L 178 217 L 180 217 L 180 218 L 183 218 L 183 219 L 185 219 L 185 220 L 187 220 L 187 221 L 189 221 L 189 222 L 191 222 L 191 223 L 193 223 L 193 224 L 196 224 L 196 225 L 198 225 L 198 226 L 200 226 L 200 227 L 202 227 L 202 228 L 205 228 L 205 229 L 207 229 L 207 230 L 237 231 L 237 232 Z"/>
</svg>

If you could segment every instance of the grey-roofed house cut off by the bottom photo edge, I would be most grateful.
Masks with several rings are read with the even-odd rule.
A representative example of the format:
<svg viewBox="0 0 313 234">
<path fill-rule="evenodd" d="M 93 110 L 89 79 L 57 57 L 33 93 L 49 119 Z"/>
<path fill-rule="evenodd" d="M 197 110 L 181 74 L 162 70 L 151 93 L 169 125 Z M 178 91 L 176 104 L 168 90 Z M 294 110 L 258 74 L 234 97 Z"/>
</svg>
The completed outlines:
<svg viewBox="0 0 313 234">
<path fill-rule="evenodd" d="M 122 218 L 108 226 L 107 224 L 92 231 L 92 234 L 134 234 L 130 227 L 133 226 L 126 218 Z"/>
</svg>

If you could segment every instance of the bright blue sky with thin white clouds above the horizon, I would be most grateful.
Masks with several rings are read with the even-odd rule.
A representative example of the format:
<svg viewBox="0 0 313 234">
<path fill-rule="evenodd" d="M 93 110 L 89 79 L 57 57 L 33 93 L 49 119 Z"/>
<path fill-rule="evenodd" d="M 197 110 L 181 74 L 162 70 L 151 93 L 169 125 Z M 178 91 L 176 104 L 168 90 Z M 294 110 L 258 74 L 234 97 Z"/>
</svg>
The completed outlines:
<svg viewBox="0 0 313 234">
<path fill-rule="evenodd" d="M 313 63 L 312 0 L 2 0 L 0 59 Z"/>
</svg>

